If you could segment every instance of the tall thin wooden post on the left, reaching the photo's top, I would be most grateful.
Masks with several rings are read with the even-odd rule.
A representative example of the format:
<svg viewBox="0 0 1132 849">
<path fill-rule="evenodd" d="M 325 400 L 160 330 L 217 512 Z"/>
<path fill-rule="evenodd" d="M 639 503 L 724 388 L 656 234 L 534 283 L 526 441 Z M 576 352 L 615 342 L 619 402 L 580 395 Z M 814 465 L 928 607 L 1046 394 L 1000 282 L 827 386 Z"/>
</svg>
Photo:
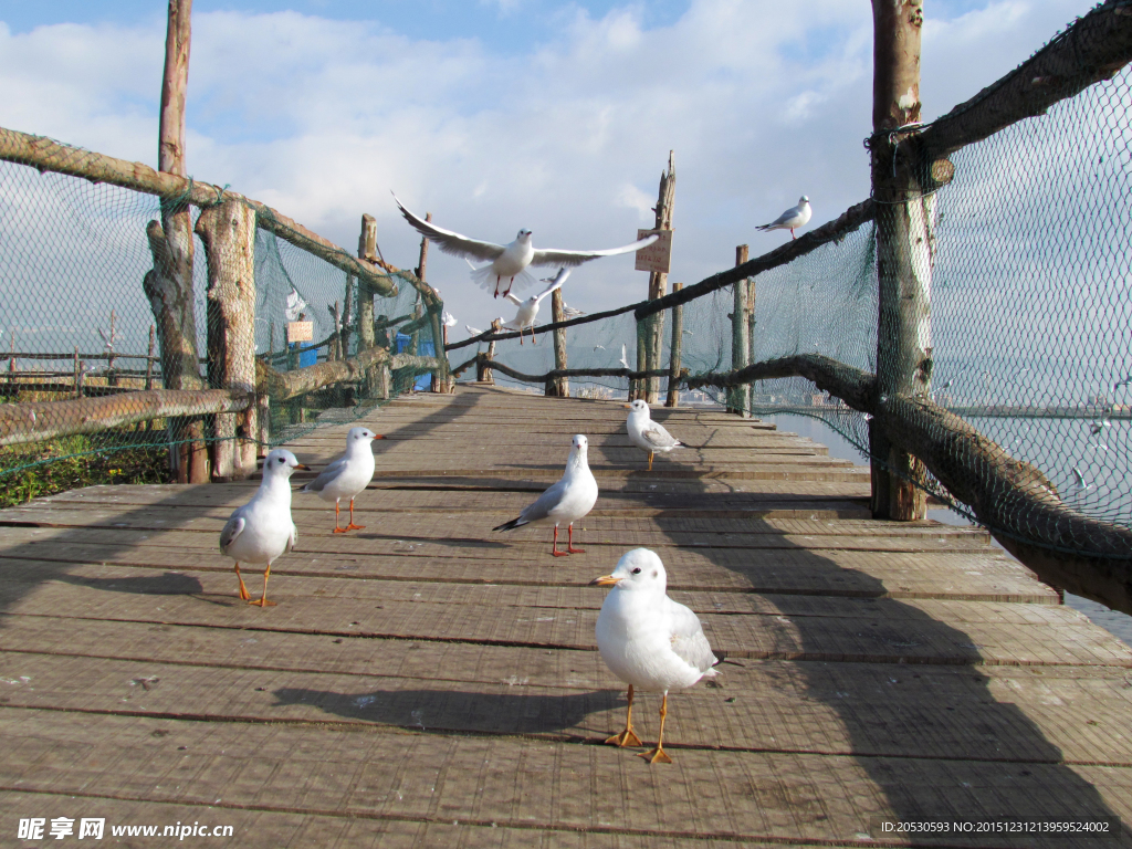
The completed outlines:
<svg viewBox="0 0 1132 849">
<path fill-rule="evenodd" d="M 185 93 L 189 82 L 189 42 L 192 0 L 169 0 L 165 71 L 161 87 L 161 128 L 157 168 L 186 177 Z M 162 203 L 161 222 L 146 228 L 153 268 L 142 285 L 157 326 L 161 375 L 165 388 L 200 389 L 197 323 L 192 298 L 192 218 L 186 203 Z M 208 481 L 204 424 L 198 419 L 173 419 L 170 436 L 189 439 L 170 460 L 180 482 Z"/>
</svg>

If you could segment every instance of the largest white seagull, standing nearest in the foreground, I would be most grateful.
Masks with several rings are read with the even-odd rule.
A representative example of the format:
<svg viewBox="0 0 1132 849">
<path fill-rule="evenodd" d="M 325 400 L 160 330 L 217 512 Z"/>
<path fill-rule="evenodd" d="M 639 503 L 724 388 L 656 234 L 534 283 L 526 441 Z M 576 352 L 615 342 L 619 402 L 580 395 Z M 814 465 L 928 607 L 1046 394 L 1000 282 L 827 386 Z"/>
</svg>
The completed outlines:
<svg viewBox="0 0 1132 849">
<path fill-rule="evenodd" d="M 664 564 L 655 552 L 635 548 L 626 552 L 612 574 L 590 582 L 612 586 L 598 614 L 595 635 L 601 659 L 629 685 L 625 730 L 606 740 L 610 746 L 643 746 L 633 730 L 633 689 L 663 693 L 657 746 L 637 757 L 649 763 L 671 763 L 664 752 L 668 691 L 686 689 L 704 676 L 714 677 L 719 663 L 704 636 L 703 625 L 684 604 L 666 592 Z"/>
</svg>

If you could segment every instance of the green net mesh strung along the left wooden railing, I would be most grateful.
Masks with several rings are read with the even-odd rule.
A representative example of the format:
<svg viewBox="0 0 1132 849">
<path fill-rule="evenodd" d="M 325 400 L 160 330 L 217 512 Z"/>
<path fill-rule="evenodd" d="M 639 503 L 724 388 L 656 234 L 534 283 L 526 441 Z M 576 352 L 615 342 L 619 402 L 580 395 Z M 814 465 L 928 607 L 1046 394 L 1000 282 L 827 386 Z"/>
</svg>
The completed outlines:
<svg viewBox="0 0 1132 849">
<path fill-rule="evenodd" d="M 85 155 L 68 149 L 76 160 Z M 192 207 L 190 214 L 196 222 L 200 209 Z M 194 414 L 191 409 L 175 418 L 136 420 L 143 408 L 131 393 L 224 385 L 223 370 L 209 362 L 216 359 L 209 338 L 218 337 L 220 316 L 216 298 L 209 305 L 200 235 L 194 238 L 192 308 L 186 310 L 191 331 L 185 334 L 191 335 L 188 348 L 196 355 L 187 359 L 196 360 L 195 368 L 175 381 L 164 374 L 166 340 L 143 286 L 155 267 L 147 228 L 161 220 L 157 197 L 0 162 L 0 481 L 6 503 L 84 482 L 169 480 L 171 462 L 180 462 L 180 444 L 212 452 L 216 443 L 239 439 L 258 443 L 263 453 L 320 423 L 359 418 L 428 381 L 419 365 L 394 369 L 384 379 L 371 369 L 368 379 L 286 398 L 278 396 L 278 383 L 269 381 L 259 405 L 269 424 L 255 432 L 228 432 L 224 413 Z M 286 375 L 357 354 L 366 342 L 360 321 L 368 318 L 378 345 L 393 353 L 434 354 L 430 308 L 408 276 L 391 275 L 391 297 L 375 294 L 276 232 L 255 231 L 252 329 L 250 338 L 229 338 L 229 345 L 251 348 L 263 366 Z M 231 251 L 220 264 L 230 257 L 238 264 Z M 363 309 L 367 298 L 371 310 Z M 312 325 L 311 341 L 289 344 L 288 326 L 300 311 Z M 113 402 L 115 414 L 129 421 L 84 432 L 82 411 L 50 404 L 79 397 Z M 196 422 L 196 429 L 186 430 L 187 422 Z M 29 424 L 38 428 L 32 427 L 34 432 L 49 424 L 48 438 L 28 441 Z"/>
</svg>

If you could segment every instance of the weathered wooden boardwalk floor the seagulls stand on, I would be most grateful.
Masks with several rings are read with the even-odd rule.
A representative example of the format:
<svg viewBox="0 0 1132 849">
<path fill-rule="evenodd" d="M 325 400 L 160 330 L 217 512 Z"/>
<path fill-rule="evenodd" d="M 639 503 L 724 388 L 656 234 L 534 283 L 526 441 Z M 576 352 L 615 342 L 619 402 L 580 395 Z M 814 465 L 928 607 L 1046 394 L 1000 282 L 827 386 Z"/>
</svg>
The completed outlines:
<svg viewBox="0 0 1132 849">
<path fill-rule="evenodd" d="M 388 437 L 366 530 L 334 535 L 333 511 L 295 496 L 267 610 L 238 601 L 217 551 L 254 482 L 0 512 L 0 846 L 43 846 L 15 839 L 18 820 L 62 816 L 105 817 L 104 842 L 127 846 L 634 849 L 1116 816 L 1116 841 L 915 844 L 1132 846 L 1129 646 L 980 530 L 873 521 L 867 471 L 820 445 L 654 415 L 703 447 L 650 473 L 611 402 L 475 386 L 394 402 L 366 420 Z M 317 470 L 345 429 L 289 447 Z M 550 557 L 549 529 L 491 533 L 576 432 L 602 490 L 586 554 Z M 671 765 L 601 745 L 625 694 L 586 583 L 636 546 L 727 659 L 670 700 Z M 654 740 L 659 697 L 637 705 Z M 235 837 L 110 837 L 173 823 Z"/>
</svg>

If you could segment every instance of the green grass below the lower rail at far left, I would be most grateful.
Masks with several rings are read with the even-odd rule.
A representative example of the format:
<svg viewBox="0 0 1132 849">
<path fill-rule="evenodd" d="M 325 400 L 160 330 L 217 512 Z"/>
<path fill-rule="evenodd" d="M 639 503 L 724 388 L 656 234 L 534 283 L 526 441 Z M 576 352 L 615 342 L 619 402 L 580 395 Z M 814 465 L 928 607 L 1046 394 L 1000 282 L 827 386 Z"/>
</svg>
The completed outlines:
<svg viewBox="0 0 1132 849">
<path fill-rule="evenodd" d="M 112 430 L 95 437 L 71 436 L 35 446 L 0 447 L 0 507 L 97 483 L 166 483 L 168 449 L 129 446 L 131 441 L 160 441 L 163 436 Z M 11 469 L 17 471 L 9 472 Z"/>
</svg>

